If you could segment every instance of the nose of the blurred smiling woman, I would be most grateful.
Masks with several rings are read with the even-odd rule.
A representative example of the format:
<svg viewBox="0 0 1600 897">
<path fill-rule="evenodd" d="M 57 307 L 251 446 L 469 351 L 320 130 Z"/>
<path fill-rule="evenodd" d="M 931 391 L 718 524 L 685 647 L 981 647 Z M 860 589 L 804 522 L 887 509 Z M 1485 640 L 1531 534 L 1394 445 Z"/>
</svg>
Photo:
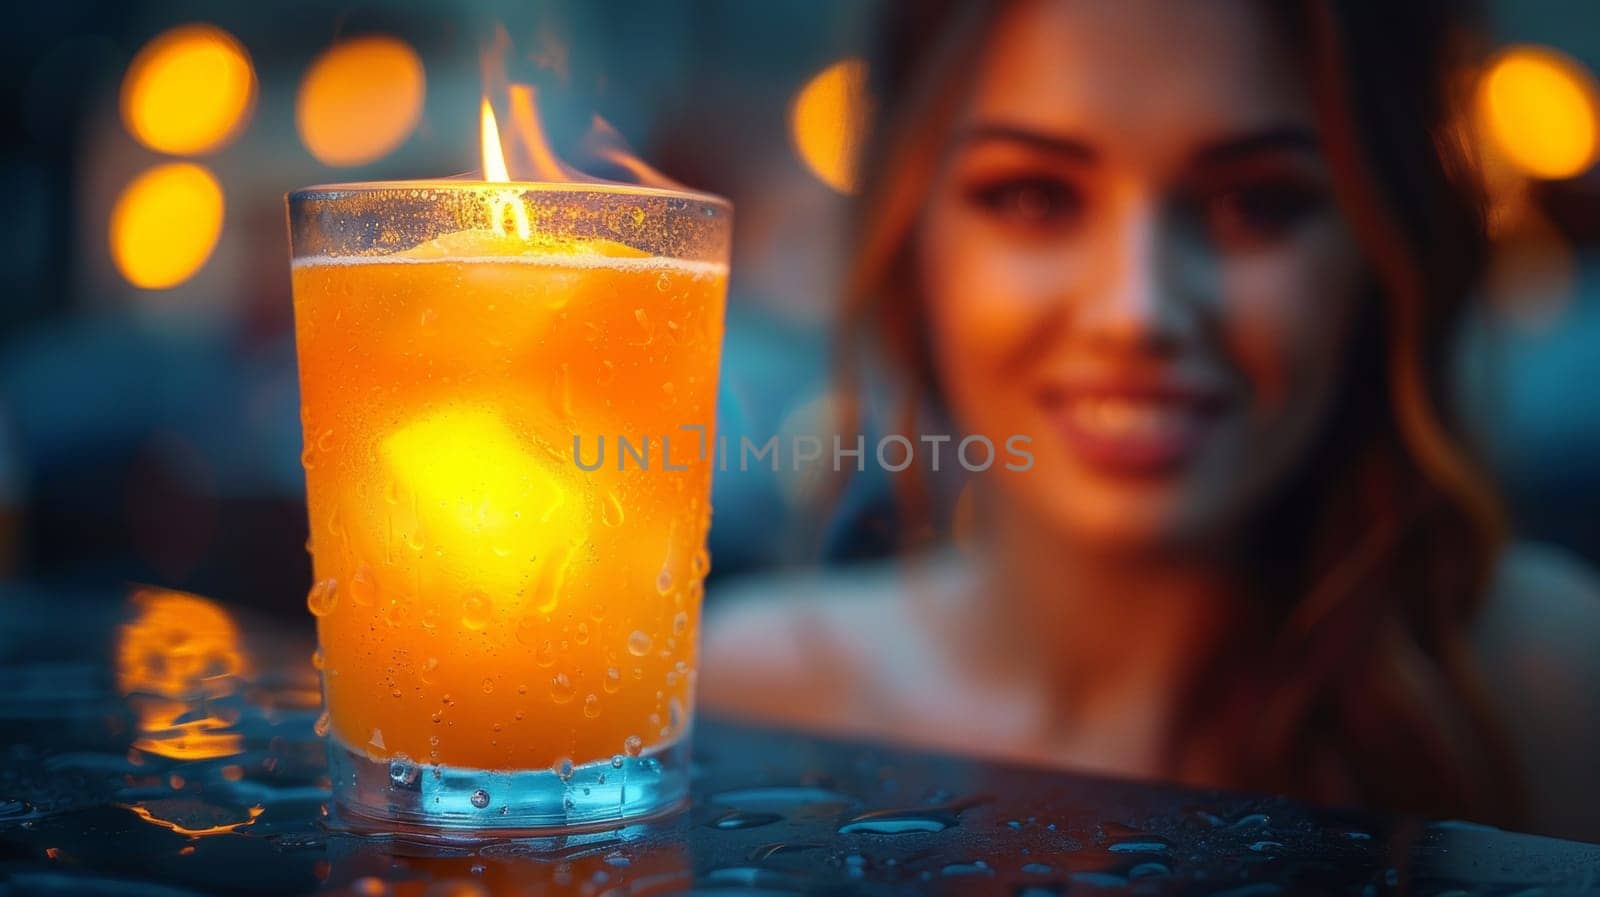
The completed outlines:
<svg viewBox="0 0 1600 897">
<path fill-rule="evenodd" d="M 1080 336 L 1112 349 L 1170 350 L 1190 317 L 1174 222 L 1155 201 L 1128 201 L 1109 222 L 1099 277 L 1078 297 Z"/>
</svg>

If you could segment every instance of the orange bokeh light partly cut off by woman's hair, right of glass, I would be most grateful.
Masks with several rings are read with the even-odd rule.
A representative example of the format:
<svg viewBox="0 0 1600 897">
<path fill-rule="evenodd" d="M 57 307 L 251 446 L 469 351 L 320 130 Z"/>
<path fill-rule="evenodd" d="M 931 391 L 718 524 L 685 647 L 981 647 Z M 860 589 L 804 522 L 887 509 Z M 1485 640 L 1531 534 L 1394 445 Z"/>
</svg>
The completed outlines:
<svg viewBox="0 0 1600 897">
<path fill-rule="evenodd" d="M 856 190 L 856 155 L 867 115 L 867 64 L 861 59 L 842 59 L 818 72 L 789 109 L 789 138 L 800 160 L 840 193 Z"/>
</svg>

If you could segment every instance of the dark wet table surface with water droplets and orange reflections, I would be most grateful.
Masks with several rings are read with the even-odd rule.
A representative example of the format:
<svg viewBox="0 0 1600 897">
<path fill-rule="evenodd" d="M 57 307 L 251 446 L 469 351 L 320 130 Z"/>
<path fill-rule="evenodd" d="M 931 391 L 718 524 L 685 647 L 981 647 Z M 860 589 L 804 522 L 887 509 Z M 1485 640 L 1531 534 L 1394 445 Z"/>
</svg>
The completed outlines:
<svg viewBox="0 0 1600 897">
<path fill-rule="evenodd" d="M 661 822 L 328 828 L 307 633 L 181 593 L 0 588 L 0 895 L 1600 894 L 1600 846 L 701 720 Z"/>
</svg>

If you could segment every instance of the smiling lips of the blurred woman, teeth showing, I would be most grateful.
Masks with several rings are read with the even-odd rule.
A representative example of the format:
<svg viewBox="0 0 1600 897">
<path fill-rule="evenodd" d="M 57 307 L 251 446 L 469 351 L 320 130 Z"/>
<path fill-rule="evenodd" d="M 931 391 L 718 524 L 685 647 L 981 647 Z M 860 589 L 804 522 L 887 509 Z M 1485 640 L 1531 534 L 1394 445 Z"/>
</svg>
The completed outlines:
<svg viewBox="0 0 1600 897">
<path fill-rule="evenodd" d="M 1149 476 L 1198 452 L 1227 393 L 1176 379 L 1101 379 L 1048 387 L 1040 403 L 1074 456 L 1107 473 Z"/>
</svg>

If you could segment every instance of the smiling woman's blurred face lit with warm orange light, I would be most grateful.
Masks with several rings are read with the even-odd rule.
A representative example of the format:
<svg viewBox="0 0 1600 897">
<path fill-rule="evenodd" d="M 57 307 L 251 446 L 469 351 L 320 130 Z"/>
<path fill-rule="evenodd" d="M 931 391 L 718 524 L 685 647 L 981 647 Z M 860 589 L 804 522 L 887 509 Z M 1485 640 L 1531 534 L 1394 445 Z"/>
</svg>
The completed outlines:
<svg viewBox="0 0 1600 897">
<path fill-rule="evenodd" d="M 1330 413 L 1365 283 L 1258 3 L 1013 3 L 946 150 L 917 273 L 955 422 L 1032 438 L 1002 494 L 1082 542 L 1226 540 Z"/>
</svg>

